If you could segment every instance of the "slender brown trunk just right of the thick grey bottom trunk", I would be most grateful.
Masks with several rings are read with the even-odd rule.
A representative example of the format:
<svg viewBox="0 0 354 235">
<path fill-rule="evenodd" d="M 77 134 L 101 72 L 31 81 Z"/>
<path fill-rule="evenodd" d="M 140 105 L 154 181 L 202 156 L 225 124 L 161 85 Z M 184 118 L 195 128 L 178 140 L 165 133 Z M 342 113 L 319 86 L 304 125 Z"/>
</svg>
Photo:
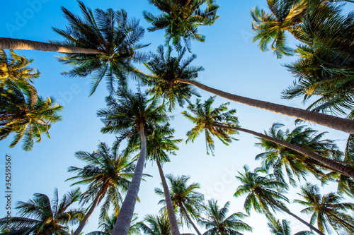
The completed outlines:
<svg viewBox="0 0 354 235">
<path fill-rule="evenodd" d="M 166 200 L 166 207 L 167 207 L 167 215 L 169 215 L 169 222 L 170 222 L 170 227 L 171 227 L 171 232 L 172 235 L 180 235 L 179 230 L 178 230 L 178 224 L 177 224 L 177 219 L 175 212 L 173 210 L 173 205 L 172 205 L 172 200 L 171 200 L 171 195 L 169 191 L 169 186 L 167 185 L 164 171 L 162 171 L 162 167 L 159 161 L 159 156 L 157 155 L 156 147 L 155 147 L 155 157 L 156 157 L 156 164 L 157 167 L 159 168 L 159 174 L 161 177 L 162 181 L 162 186 L 164 187 L 164 194 L 165 194 L 165 200 Z"/>
</svg>

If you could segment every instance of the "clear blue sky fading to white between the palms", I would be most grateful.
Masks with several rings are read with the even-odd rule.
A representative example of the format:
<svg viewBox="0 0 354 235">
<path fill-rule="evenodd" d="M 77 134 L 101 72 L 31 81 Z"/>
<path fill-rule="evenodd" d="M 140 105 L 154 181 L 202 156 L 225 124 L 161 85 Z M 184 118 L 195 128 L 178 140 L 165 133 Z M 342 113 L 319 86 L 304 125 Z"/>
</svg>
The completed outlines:
<svg viewBox="0 0 354 235">
<path fill-rule="evenodd" d="M 251 30 L 250 11 L 254 6 L 265 8 L 265 0 L 218 0 L 220 8 L 218 15 L 220 18 L 212 26 L 200 27 L 200 34 L 206 36 L 204 43 L 193 42 L 192 51 L 197 54 L 197 59 L 193 61 L 195 66 L 203 66 L 198 80 L 212 88 L 224 90 L 236 95 L 252 97 L 258 100 L 265 100 L 278 104 L 285 104 L 291 107 L 305 109 L 308 104 L 302 103 L 301 99 L 281 100 L 282 90 L 291 85 L 295 78 L 286 70 L 282 64 L 295 61 L 296 57 L 286 57 L 276 59 L 272 52 L 261 52 L 257 43 L 252 42 L 253 32 Z M 152 12 L 154 15 L 159 11 L 154 6 L 149 5 L 146 0 L 131 1 L 87 1 L 84 4 L 89 8 L 122 8 L 127 11 L 128 17 L 140 19 L 140 25 L 145 29 L 148 23 L 142 18 L 142 11 Z M 1 3 L 3 9 L 1 13 L 0 34 L 1 37 L 13 37 L 26 40 L 48 42 L 48 40 L 62 40 L 52 27 L 64 29 L 67 21 L 62 15 L 60 6 L 64 6 L 80 15 L 79 6 L 76 1 L 54 1 L 54 0 L 28 0 L 28 1 L 6 1 Z M 353 10 L 353 8 L 352 8 Z M 164 32 L 145 32 L 142 43 L 151 43 L 144 52 L 156 52 L 159 44 L 164 44 Z M 293 46 L 293 41 L 289 40 Z M 103 123 L 96 116 L 98 109 L 105 107 L 104 98 L 108 95 L 105 84 L 100 84 L 98 90 L 89 97 L 90 78 L 68 78 L 62 76 L 62 71 L 68 71 L 69 66 L 60 64 L 54 52 L 34 52 L 17 50 L 17 54 L 34 59 L 32 67 L 38 68 L 41 76 L 35 80 L 35 88 L 42 97 L 55 97 L 57 102 L 64 106 L 61 112 L 63 120 L 52 125 L 50 128 L 50 139 L 43 137 L 40 143 L 35 143 L 33 150 L 25 152 L 21 149 L 21 143 L 16 147 L 8 148 L 12 136 L 0 142 L 0 190 L 5 192 L 5 155 L 11 156 L 12 165 L 12 204 L 16 201 L 27 201 L 33 198 L 33 193 L 44 193 L 52 198 L 53 191 L 58 188 L 59 195 L 69 191 L 72 182 L 66 181 L 74 176 L 67 172 L 70 166 L 84 167 L 85 163 L 74 157 L 74 152 L 93 152 L 99 141 L 111 145 L 114 135 L 101 134 Z M 188 55 L 188 53 L 187 53 Z M 137 65 L 143 68 L 142 65 Z M 132 82 L 132 89 L 135 83 Z M 211 94 L 198 90 L 202 100 L 206 100 Z M 193 98 L 194 100 L 194 98 Z M 217 97 L 215 107 L 224 102 L 228 102 L 221 97 Z M 165 174 L 188 175 L 190 183 L 200 183 L 200 192 L 204 193 L 205 199 L 215 198 L 220 206 L 224 206 L 230 201 L 230 215 L 233 212 L 243 212 L 244 197 L 234 198 L 239 182 L 235 175 L 238 171 L 243 171 L 242 167 L 247 164 L 251 169 L 260 166 L 254 157 L 263 152 L 254 144 L 257 139 L 247 133 L 240 133 L 235 137 L 229 146 L 223 145 L 215 139 L 215 156 L 207 155 L 205 150 L 205 140 L 202 135 L 194 143 L 185 145 L 185 133 L 193 126 L 183 117 L 181 112 L 186 107 L 178 107 L 174 112 L 174 119 L 171 121 L 173 128 L 176 128 L 176 138 L 183 138 L 179 145 L 176 156 L 171 156 L 171 162 L 164 164 Z M 236 116 L 239 118 L 243 128 L 253 131 L 263 132 L 268 130 L 272 123 L 279 122 L 285 124 L 287 128 L 294 128 L 295 119 L 273 114 L 261 109 L 247 107 L 244 104 L 231 103 L 230 109 L 236 109 Z M 343 150 L 348 134 L 335 131 L 323 126 L 309 124 L 318 131 L 326 131 L 325 137 L 338 140 L 338 146 Z M 137 203 L 135 212 L 141 220 L 144 215 L 156 214 L 160 210 L 157 205 L 160 198 L 155 195 L 154 188 L 160 187 L 159 173 L 156 164 L 147 162 L 144 173 L 153 177 L 142 182 L 139 191 L 141 202 Z M 308 181 L 319 184 L 319 181 L 309 176 Z M 81 191 L 86 189 L 81 186 Z M 335 191 L 334 184 L 325 185 L 321 188 L 321 193 Z M 298 188 L 291 188 L 287 197 L 290 201 L 299 199 Z M 4 193 L 5 194 L 5 193 Z M 0 217 L 6 215 L 4 196 L 0 197 Z M 301 215 L 309 221 L 309 215 L 300 213 L 302 207 L 299 205 L 289 205 L 290 210 L 296 215 Z M 97 230 L 98 208 L 89 219 L 89 223 L 84 228 L 84 233 Z M 16 215 L 16 211 L 12 211 Z M 292 218 L 278 213 L 279 219 L 290 219 L 292 222 L 292 232 L 307 229 L 302 224 Z M 252 211 L 251 216 L 244 219 L 251 227 L 252 234 L 270 234 L 267 227 L 267 220 L 263 215 L 258 215 Z M 201 231 L 205 229 L 200 228 Z M 182 231 L 190 231 L 183 228 Z M 244 232 L 244 234 L 251 234 Z"/>
</svg>

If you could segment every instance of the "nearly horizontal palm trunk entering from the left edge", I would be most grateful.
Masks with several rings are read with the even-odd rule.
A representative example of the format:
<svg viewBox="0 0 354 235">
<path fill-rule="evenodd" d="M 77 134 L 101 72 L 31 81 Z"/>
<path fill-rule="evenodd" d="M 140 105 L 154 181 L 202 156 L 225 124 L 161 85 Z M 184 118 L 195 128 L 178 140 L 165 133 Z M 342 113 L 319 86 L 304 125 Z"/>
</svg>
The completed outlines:
<svg viewBox="0 0 354 235">
<path fill-rule="evenodd" d="M 20 40 L 16 38 L 0 37 L 0 49 L 22 49 L 33 51 L 48 51 L 61 53 L 106 54 L 98 49 L 82 47 L 68 47 L 47 42 Z"/>
</svg>

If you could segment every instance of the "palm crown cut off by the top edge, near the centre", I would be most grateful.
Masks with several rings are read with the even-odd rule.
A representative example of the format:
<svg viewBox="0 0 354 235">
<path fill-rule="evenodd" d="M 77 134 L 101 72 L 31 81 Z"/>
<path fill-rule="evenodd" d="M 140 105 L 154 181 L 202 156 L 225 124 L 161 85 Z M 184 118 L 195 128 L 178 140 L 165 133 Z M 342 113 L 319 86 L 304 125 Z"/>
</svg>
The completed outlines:
<svg viewBox="0 0 354 235">
<path fill-rule="evenodd" d="M 172 44 L 181 51 L 181 39 L 190 51 L 190 40 L 204 42 L 205 36 L 198 34 L 200 25 L 212 25 L 219 16 L 219 6 L 214 0 L 149 0 L 149 3 L 162 11 L 161 15 L 154 16 L 144 11 L 144 18 L 152 26 L 149 31 L 165 29 L 166 44 Z M 202 10 L 202 6 L 206 8 Z"/>
</svg>

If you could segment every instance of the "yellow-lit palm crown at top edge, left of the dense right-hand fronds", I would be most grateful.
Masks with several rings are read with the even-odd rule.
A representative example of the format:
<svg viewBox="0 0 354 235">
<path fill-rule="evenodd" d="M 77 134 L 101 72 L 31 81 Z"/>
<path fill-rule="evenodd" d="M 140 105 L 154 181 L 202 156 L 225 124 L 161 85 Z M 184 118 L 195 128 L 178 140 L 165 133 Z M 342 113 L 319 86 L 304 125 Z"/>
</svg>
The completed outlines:
<svg viewBox="0 0 354 235">
<path fill-rule="evenodd" d="M 253 42 L 259 40 L 258 47 L 265 52 L 268 44 L 277 58 L 293 55 L 293 49 L 286 46 L 285 31 L 292 32 L 301 23 L 302 13 L 308 0 L 267 0 L 271 13 L 265 13 L 257 6 L 251 10 L 252 30 L 256 32 Z"/>
</svg>

